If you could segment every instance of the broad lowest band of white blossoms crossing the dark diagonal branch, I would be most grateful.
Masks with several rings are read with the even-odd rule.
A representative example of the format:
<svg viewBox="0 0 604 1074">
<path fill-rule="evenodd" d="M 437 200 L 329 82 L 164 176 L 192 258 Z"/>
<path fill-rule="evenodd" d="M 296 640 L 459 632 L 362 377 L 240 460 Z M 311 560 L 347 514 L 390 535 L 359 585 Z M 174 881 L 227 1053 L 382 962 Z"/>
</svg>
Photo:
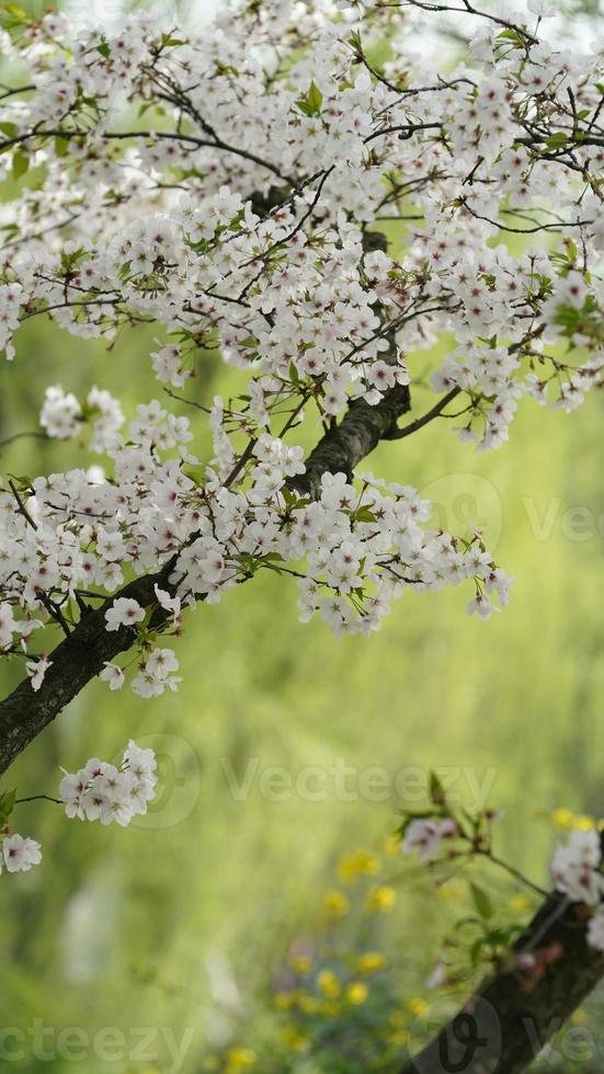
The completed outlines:
<svg viewBox="0 0 604 1074">
<path fill-rule="evenodd" d="M 467 582 L 468 610 L 481 618 L 491 614 L 494 597 L 506 603 L 511 579 L 481 535 L 456 538 L 426 528 L 432 507 L 413 488 L 387 485 L 371 473 L 354 484 L 343 473 L 324 473 L 320 495 L 311 500 L 288 485 L 304 469 L 303 449 L 267 435 L 250 454 L 244 487 L 227 487 L 215 469 L 219 460 L 198 484 L 190 476 L 197 462 L 185 449 L 190 435 L 186 419 L 174 419 L 157 401 L 140 405 L 128 441 L 106 448 L 115 480 L 72 470 L 36 478 L 21 492 L 14 485 L 0 492 L 5 652 L 26 644 L 53 613 L 68 614 L 76 595 L 103 599 L 132 571 L 153 571 L 167 561 L 171 590 L 156 586 L 155 606 L 163 628 L 175 633 L 182 607 L 215 603 L 261 569 L 294 575 L 300 618 L 319 613 L 337 632 L 376 629 L 390 601 L 407 589 Z M 15 614 L 18 605 L 24 618 Z M 149 642 L 146 610 L 136 599 L 109 596 L 104 618 L 109 631 L 132 628 L 140 647 L 136 693 L 157 696 L 178 686 L 171 674 L 178 660 L 171 649 Z M 34 689 L 50 666 L 43 655 L 27 662 Z M 112 689 L 124 681 L 112 662 L 101 678 Z"/>
</svg>

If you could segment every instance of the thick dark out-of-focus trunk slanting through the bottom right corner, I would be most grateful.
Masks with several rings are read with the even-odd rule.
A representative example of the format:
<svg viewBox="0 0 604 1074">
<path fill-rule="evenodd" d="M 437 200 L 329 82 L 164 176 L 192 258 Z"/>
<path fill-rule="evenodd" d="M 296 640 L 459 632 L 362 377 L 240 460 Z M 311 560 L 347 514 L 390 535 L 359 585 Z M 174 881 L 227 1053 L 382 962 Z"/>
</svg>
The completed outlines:
<svg viewBox="0 0 604 1074">
<path fill-rule="evenodd" d="M 400 1074 L 520 1074 L 604 975 L 582 907 L 547 899 L 516 944 L 537 971 L 488 979 Z"/>
</svg>

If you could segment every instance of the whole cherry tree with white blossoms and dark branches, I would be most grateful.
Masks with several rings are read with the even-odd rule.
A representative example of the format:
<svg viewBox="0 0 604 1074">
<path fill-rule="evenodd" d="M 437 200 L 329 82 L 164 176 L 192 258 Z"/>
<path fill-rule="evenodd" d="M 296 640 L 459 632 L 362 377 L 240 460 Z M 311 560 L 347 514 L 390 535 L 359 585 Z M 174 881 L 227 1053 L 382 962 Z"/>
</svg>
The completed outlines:
<svg viewBox="0 0 604 1074">
<path fill-rule="evenodd" d="M 445 416 L 468 450 L 495 449 L 518 405 L 571 411 L 602 386 L 604 55 L 543 39 L 547 11 L 529 7 L 526 22 L 470 0 L 251 0 L 197 35 L 133 16 L 73 37 L 61 16 L 7 5 L 0 176 L 18 194 L 2 208 L 0 346 L 12 361 L 33 317 L 107 344 L 151 323 L 159 384 L 128 422 L 102 387 L 78 399 L 66 369 L 39 423 L 88 434 L 91 454 L 1 482 L 0 655 L 26 677 L 0 702 L 0 772 L 95 676 L 146 698 L 176 689 L 166 639 L 260 571 L 337 633 L 377 629 L 410 587 L 460 586 L 481 619 L 505 606 L 488 534 L 434 528 L 415 489 L 358 467 L 388 441 L 402 470 L 398 442 Z M 418 48 L 441 11 L 471 35 L 446 71 Z M 201 458 L 187 414 L 209 351 L 240 387 L 205 412 Z M 144 811 L 146 753 L 130 742 L 121 769 L 66 774 L 68 815 Z M 4 824 L 14 804 L 0 799 Z M 485 853 L 435 807 L 406 849 L 432 857 L 446 835 Z M 3 839 L 9 871 L 39 854 Z M 543 1042 L 602 975 L 600 865 L 595 837 L 557 852 L 556 890 L 515 947 L 525 966 L 556 957 L 528 990 L 514 959 L 490 976 L 463 1014 L 492 1048 L 455 1069 L 523 1070 L 524 1020 Z M 458 1027 L 443 1032 L 464 1059 Z M 442 1070 L 445 1038 L 407 1070 Z"/>
</svg>

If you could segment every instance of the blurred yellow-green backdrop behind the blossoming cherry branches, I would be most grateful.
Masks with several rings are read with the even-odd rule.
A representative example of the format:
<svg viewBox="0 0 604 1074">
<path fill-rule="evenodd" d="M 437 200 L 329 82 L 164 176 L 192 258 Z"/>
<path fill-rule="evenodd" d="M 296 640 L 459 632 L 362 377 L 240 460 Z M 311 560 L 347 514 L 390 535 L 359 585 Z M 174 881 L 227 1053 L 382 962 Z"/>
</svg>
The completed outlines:
<svg viewBox="0 0 604 1074">
<path fill-rule="evenodd" d="M 14 364 L 0 365 L 0 439 L 36 427 L 53 384 L 79 397 L 92 385 L 109 388 L 133 416 L 137 401 L 158 397 L 147 357 L 153 336 L 130 331 L 107 352 L 42 319 L 30 322 Z M 444 349 L 415 356 L 412 367 L 435 364 Z M 237 384 L 206 355 L 192 397 L 206 402 Z M 424 398 L 420 389 L 415 412 Z M 180 412 L 198 427 L 198 454 L 207 457 L 195 411 Z M 347 891 L 335 875 L 340 857 L 358 846 L 379 849 L 397 811 L 418 804 L 410 791 L 431 768 L 448 772 L 470 806 L 483 804 L 477 796 L 487 788 L 489 803 L 506 813 L 499 850 L 547 882 L 555 835 L 544 819 L 560 806 L 604 813 L 596 730 L 603 422 L 597 395 L 572 416 L 525 402 L 511 443 L 497 453 L 475 455 L 442 421 L 380 447 L 366 464 L 422 490 L 440 525 L 459 532 L 477 522 L 485 529 L 488 547 L 517 579 L 510 607 L 490 621 L 466 615 L 467 589 L 409 593 L 379 633 L 339 640 L 318 621 L 297 621 L 295 584 L 258 576 L 185 617 L 175 645 L 178 695 L 144 701 L 94 683 L 32 744 L 3 788 L 55 793 L 60 765 L 73 770 L 91 755 L 113 758 L 129 736 L 158 751 L 161 781 L 149 816 L 124 831 L 69 822 L 52 804 L 15 814 L 18 830 L 43 843 L 44 861 L 0 881 L 0 1022 L 37 1042 L 11 1067 L 175 1070 L 166 1041 L 153 1054 L 161 1032 L 155 1044 L 136 1037 L 156 1027 L 178 1040 L 191 1028 L 180 1067 L 191 1074 L 267 1071 L 269 1060 L 258 1058 L 263 1047 L 271 1071 L 369 1069 L 337 1059 L 323 1066 L 301 1043 L 289 1059 L 271 1052 L 277 1016 L 267 993 L 292 941 L 315 942 L 308 937 L 320 932 L 326 891 Z M 304 439 L 311 443 L 311 431 Z M 81 459 L 77 445 L 22 439 L 2 448 L 0 471 L 52 472 Z M 18 671 L 1 670 L 2 695 Z M 290 791 L 271 792 L 273 766 L 288 774 Z M 381 856 L 376 877 L 392 886 L 396 905 L 378 933 L 361 935 L 360 926 L 342 942 L 379 942 L 396 970 L 391 989 L 413 1016 L 403 997 L 425 995 L 453 911 L 446 900 L 429 899 L 430 884 L 398 857 Z M 491 890 L 514 905 L 506 881 L 492 877 Z M 50 1028 L 44 1038 L 41 1027 Z M 89 1049 L 81 1061 L 76 1046 L 72 1058 L 57 1054 L 57 1035 L 72 1027 L 89 1037 L 115 1027 L 128 1040 L 127 1055 L 103 1060 Z M 224 1059 L 225 1049 L 239 1047 L 252 1049 L 255 1062 L 251 1051 Z"/>
</svg>

